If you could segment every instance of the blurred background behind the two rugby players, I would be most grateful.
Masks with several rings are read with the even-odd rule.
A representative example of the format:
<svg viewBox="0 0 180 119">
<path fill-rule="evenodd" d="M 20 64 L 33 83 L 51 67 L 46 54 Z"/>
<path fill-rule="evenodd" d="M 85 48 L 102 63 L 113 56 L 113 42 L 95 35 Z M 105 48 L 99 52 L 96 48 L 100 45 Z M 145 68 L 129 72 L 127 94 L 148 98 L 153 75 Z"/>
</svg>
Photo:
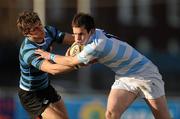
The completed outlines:
<svg viewBox="0 0 180 119">
<path fill-rule="evenodd" d="M 90 13 L 98 28 L 128 42 L 159 67 L 172 117 L 180 118 L 179 0 L 0 0 L 0 119 L 28 119 L 17 98 L 23 37 L 16 19 L 24 10 L 38 12 L 45 25 L 69 33 L 75 13 Z M 55 44 L 54 52 L 64 54 L 67 47 Z M 95 64 L 50 78 L 65 99 L 70 119 L 104 119 L 114 81 L 108 68 Z M 123 119 L 136 118 L 153 119 L 141 99 L 123 115 Z"/>
</svg>

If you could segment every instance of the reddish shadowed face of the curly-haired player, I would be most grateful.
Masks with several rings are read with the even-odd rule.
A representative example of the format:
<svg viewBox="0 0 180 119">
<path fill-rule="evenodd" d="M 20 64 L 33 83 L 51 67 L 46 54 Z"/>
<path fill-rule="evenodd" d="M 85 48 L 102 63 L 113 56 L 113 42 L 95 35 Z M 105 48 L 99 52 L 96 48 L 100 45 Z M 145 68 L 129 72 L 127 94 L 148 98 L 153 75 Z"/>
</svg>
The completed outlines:
<svg viewBox="0 0 180 119">
<path fill-rule="evenodd" d="M 36 24 L 34 27 L 32 27 L 27 36 L 35 42 L 42 42 L 45 37 L 45 32 L 42 24 Z"/>
</svg>

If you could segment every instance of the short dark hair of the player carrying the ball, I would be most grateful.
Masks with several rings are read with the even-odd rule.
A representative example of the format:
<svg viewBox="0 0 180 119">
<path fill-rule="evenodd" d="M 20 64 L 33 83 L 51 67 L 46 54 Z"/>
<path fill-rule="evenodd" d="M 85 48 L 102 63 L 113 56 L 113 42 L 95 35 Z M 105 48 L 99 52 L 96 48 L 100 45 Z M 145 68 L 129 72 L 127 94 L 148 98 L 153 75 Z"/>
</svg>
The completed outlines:
<svg viewBox="0 0 180 119">
<path fill-rule="evenodd" d="M 89 14 L 77 13 L 72 20 L 72 27 L 84 27 L 89 32 L 95 28 L 94 19 Z"/>
</svg>

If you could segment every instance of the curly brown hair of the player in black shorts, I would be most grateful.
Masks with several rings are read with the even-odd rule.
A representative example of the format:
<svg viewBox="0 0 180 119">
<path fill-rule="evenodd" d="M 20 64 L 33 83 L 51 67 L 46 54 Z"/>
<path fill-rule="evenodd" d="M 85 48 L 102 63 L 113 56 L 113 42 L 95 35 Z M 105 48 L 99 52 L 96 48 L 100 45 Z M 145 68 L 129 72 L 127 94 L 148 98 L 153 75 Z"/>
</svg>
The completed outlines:
<svg viewBox="0 0 180 119">
<path fill-rule="evenodd" d="M 23 35 L 27 35 L 30 29 L 36 24 L 41 24 L 41 20 L 36 12 L 24 11 L 19 14 L 17 19 L 17 27 Z"/>
</svg>

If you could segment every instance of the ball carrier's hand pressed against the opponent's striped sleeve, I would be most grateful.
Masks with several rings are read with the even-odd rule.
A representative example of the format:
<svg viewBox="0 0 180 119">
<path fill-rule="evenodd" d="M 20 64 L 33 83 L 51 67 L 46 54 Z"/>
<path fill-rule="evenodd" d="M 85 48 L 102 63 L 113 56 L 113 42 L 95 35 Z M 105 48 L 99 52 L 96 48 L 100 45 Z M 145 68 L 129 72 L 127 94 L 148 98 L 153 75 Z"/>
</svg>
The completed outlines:
<svg viewBox="0 0 180 119">
<path fill-rule="evenodd" d="M 51 53 L 46 52 L 46 51 L 44 51 L 44 50 L 42 50 L 42 49 L 37 49 L 37 50 L 35 50 L 35 54 L 40 55 L 39 58 L 51 60 L 51 56 L 50 56 Z"/>
</svg>

